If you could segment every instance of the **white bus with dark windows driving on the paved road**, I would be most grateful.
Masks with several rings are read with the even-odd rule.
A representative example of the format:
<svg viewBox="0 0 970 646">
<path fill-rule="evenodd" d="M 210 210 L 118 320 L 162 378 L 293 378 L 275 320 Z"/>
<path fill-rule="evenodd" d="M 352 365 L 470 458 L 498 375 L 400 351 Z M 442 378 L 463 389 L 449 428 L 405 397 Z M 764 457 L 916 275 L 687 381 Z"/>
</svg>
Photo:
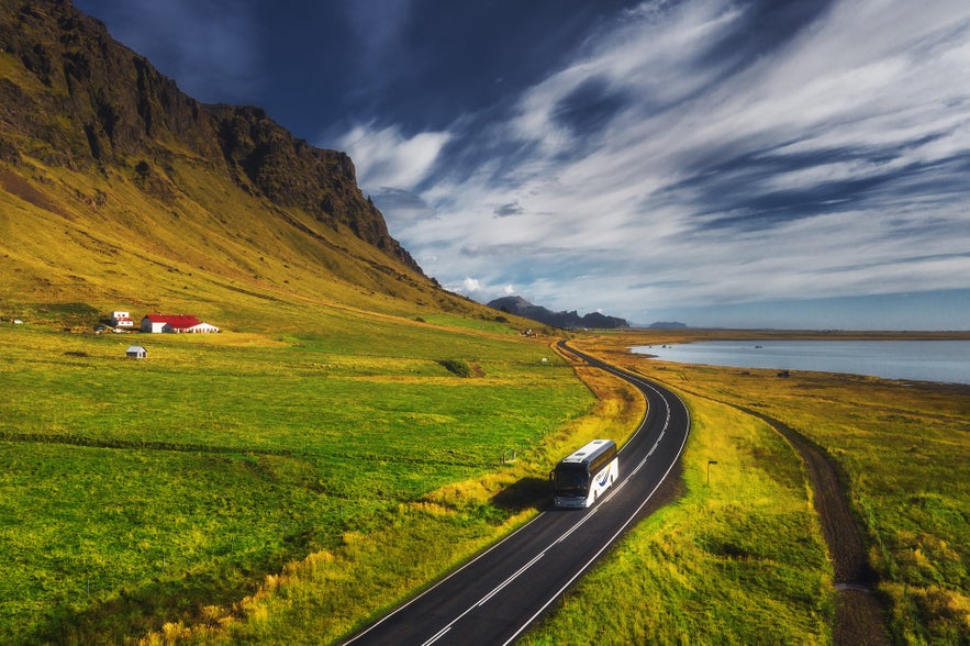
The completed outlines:
<svg viewBox="0 0 970 646">
<path fill-rule="evenodd" d="M 549 474 L 556 506 L 590 506 L 618 476 L 616 443 L 612 439 L 593 439 L 564 458 Z"/>
</svg>

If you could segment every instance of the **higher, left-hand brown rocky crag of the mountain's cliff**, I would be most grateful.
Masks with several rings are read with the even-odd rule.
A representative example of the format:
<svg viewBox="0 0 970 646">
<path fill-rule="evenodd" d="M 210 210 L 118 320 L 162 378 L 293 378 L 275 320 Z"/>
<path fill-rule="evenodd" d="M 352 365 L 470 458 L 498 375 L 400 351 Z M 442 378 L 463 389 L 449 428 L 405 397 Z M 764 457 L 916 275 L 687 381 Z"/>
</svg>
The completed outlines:
<svg viewBox="0 0 970 646">
<path fill-rule="evenodd" d="M 124 164 L 178 142 L 211 157 L 214 120 L 69 1 L 3 0 L 0 48 L 30 74 L 0 88 L 3 121 L 51 164 Z M 11 133 L 7 133 L 8 135 Z"/>
</svg>

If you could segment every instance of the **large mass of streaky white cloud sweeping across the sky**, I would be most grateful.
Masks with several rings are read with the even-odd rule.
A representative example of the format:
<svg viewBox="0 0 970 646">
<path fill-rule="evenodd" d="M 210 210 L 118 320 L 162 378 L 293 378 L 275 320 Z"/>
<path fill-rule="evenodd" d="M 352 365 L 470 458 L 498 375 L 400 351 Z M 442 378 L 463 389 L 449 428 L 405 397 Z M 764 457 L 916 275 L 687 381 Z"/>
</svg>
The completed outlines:
<svg viewBox="0 0 970 646">
<path fill-rule="evenodd" d="M 549 307 L 970 288 L 970 5 L 772 7 L 645 2 L 504 119 L 354 158 L 433 207 L 394 233 L 443 282 Z"/>
</svg>

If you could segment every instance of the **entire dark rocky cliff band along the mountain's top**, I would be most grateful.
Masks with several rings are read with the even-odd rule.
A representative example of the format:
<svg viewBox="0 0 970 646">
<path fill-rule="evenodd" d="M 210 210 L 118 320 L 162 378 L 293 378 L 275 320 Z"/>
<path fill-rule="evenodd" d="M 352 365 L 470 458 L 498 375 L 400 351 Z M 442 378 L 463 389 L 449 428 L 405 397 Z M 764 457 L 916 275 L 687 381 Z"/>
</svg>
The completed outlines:
<svg viewBox="0 0 970 646">
<path fill-rule="evenodd" d="M 68 0 L 0 0 L 0 160 L 133 169 L 165 193 L 178 189 L 166 171 L 172 157 L 192 157 L 421 271 L 361 193 L 346 154 L 297 140 L 258 108 L 196 101 Z"/>
</svg>

